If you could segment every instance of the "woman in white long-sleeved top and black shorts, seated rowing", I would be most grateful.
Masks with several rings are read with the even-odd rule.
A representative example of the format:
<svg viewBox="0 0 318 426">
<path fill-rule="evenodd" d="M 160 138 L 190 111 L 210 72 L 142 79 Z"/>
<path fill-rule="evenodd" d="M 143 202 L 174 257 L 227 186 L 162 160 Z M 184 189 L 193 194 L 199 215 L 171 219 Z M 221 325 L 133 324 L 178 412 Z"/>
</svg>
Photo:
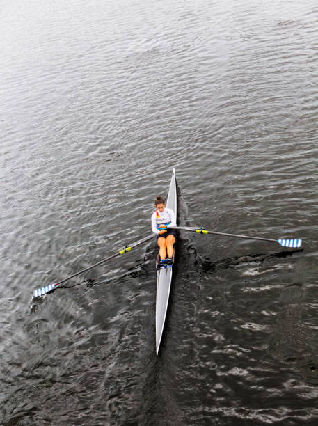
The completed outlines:
<svg viewBox="0 0 318 426">
<path fill-rule="evenodd" d="M 173 244 L 175 244 L 175 230 L 169 229 L 169 226 L 177 226 L 175 221 L 175 212 L 166 207 L 164 198 L 156 197 L 154 200 L 156 211 L 152 213 L 151 224 L 152 232 L 157 234 L 157 244 L 159 246 L 158 266 L 171 265 L 173 263 Z M 168 252 L 168 258 L 166 255 Z"/>
</svg>

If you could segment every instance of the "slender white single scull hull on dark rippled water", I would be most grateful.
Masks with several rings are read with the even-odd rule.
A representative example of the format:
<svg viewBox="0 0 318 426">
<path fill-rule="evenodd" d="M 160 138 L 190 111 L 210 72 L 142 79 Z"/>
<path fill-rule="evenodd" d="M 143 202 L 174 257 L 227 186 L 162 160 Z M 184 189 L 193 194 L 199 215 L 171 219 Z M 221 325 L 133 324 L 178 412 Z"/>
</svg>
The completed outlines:
<svg viewBox="0 0 318 426">
<path fill-rule="evenodd" d="M 175 169 L 170 182 L 166 207 L 175 212 L 177 218 L 177 186 L 175 182 Z M 173 260 L 175 255 L 173 255 Z M 157 258 L 158 263 L 158 258 Z M 156 264 L 157 267 L 157 264 Z M 156 352 L 158 355 L 162 333 L 164 331 L 164 322 L 168 308 L 171 278 L 173 276 L 173 265 L 165 265 L 157 269 L 157 300 L 156 300 Z"/>
</svg>

